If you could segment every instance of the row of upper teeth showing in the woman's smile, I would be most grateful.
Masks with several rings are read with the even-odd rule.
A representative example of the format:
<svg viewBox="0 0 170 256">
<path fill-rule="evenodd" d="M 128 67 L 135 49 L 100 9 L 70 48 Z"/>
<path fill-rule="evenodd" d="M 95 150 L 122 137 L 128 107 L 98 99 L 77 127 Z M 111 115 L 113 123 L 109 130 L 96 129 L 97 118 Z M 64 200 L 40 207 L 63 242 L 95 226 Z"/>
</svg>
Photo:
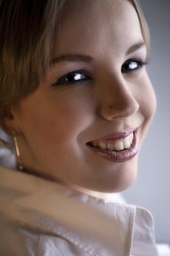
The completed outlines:
<svg viewBox="0 0 170 256">
<path fill-rule="evenodd" d="M 126 138 L 115 140 L 114 142 L 108 140 L 105 142 L 93 142 L 92 145 L 97 148 L 107 149 L 109 151 L 120 151 L 131 147 L 131 143 L 134 140 L 134 133 L 131 132 Z"/>
</svg>

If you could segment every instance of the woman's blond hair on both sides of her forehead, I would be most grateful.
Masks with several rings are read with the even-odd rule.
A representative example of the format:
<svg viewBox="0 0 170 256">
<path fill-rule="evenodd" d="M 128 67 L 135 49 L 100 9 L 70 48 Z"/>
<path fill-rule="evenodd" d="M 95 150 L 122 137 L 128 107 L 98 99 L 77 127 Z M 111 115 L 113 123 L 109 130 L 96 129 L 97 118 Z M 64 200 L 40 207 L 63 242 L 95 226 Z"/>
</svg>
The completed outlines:
<svg viewBox="0 0 170 256">
<path fill-rule="evenodd" d="M 137 0 L 144 42 L 150 34 Z M 53 38 L 64 0 L 0 1 L 0 123 L 15 102 L 33 93 L 50 65 Z"/>
</svg>

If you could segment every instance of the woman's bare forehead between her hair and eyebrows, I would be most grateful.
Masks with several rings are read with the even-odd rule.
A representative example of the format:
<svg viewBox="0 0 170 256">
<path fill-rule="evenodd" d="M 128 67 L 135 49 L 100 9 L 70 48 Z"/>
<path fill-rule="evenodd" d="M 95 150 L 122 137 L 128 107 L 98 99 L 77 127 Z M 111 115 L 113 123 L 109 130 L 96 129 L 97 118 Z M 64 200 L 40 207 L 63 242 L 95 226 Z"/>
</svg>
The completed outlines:
<svg viewBox="0 0 170 256">
<path fill-rule="evenodd" d="M 83 50 L 89 54 L 90 49 L 128 48 L 140 40 L 139 18 L 130 1 L 67 0 L 61 12 L 55 53 Z"/>
</svg>

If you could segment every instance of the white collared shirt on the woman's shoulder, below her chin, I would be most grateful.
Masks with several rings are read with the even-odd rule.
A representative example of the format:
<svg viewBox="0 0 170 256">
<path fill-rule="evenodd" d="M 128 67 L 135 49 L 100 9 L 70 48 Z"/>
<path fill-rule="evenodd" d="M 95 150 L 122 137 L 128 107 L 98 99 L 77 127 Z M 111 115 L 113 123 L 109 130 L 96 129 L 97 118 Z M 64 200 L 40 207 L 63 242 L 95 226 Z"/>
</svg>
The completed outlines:
<svg viewBox="0 0 170 256">
<path fill-rule="evenodd" d="M 0 167 L 1 256 L 156 256 L 151 214 Z"/>
</svg>

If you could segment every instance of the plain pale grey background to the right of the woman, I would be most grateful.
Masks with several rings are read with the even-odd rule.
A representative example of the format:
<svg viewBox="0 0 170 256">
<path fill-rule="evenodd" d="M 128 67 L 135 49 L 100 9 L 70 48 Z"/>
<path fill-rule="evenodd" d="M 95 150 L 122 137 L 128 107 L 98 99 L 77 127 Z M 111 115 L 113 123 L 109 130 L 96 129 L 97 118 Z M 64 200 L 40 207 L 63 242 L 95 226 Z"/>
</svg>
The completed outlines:
<svg viewBox="0 0 170 256">
<path fill-rule="evenodd" d="M 152 212 L 156 240 L 170 243 L 170 0 L 140 3 L 152 38 L 147 70 L 158 107 L 139 157 L 139 176 L 123 195 Z"/>
</svg>

